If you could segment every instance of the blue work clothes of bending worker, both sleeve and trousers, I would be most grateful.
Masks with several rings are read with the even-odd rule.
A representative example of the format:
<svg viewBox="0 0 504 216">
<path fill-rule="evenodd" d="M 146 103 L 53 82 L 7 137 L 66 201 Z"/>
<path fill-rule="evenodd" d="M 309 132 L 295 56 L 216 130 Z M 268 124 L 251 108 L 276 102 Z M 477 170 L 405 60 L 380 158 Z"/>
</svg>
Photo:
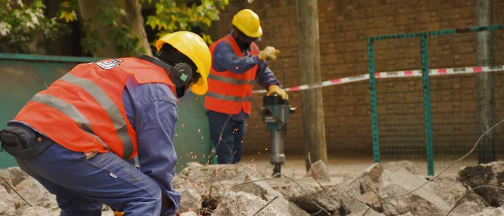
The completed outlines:
<svg viewBox="0 0 504 216">
<path fill-rule="evenodd" d="M 140 169 L 112 152 L 86 159 L 57 144 L 35 158 L 16 158 L 22 170 L 56 195 L 61 215 L 101 215 L 103 203 L 125 216 L 176 214 L 181 197 L 171 180 L 177 162 L 172 143 L 177 99 L 165 84 L 138 84 L 130 78 L 122 102 L 137 132 Z M 162 196 L 172 202 L 169 207 L 161 205 Z"/>
</svg>

